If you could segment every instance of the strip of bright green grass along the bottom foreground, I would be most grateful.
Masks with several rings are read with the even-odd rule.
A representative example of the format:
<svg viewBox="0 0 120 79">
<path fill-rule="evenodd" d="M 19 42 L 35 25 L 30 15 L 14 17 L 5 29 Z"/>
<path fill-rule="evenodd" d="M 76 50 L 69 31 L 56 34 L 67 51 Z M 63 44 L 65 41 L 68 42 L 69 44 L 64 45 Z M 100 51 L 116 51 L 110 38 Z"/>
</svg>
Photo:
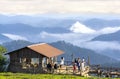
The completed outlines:
<svg viewBox="0 0 120 79">
<path fill-rule="evenodd" d="M 55 74 L 0 73 L 0 79 L 120 79 L 120 78 L 81 77 L 75 75 L 55 75 Z"/>
</svg>

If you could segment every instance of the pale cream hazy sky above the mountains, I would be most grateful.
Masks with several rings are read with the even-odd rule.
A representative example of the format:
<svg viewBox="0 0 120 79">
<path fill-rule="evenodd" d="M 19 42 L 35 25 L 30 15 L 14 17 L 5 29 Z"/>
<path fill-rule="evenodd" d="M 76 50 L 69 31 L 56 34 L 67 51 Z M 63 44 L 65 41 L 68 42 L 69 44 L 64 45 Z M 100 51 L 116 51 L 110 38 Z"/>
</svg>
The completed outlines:
<svg viewBox="0 0 120 79">
<path fill-rule="evenodd" d="M 0 13 L 120 13 L 120 0 L 0 0 Z"/>
</svg>

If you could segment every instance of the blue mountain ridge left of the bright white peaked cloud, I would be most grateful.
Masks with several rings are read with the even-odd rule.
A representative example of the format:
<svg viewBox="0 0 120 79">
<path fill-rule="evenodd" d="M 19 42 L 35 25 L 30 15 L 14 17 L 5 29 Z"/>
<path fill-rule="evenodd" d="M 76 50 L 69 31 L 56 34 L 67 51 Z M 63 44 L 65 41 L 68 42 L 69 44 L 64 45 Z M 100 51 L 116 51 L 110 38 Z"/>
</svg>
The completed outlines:
<svg viewBox="0 0 120 79">
<path fill-rule="evenodd" d="M 43 25 L 39 25 L 43 26 Z M 53 30 L 54 29 L 54 30 Z M 0 33 L 14 33 L 14 34 L 38 34 L 41 31 L 50 33 L 66 33 L 68 29 L 63 27 L 33 27 L 28 24 L 15 23 L 15 24 L 0 24 Z"/>
</svg>

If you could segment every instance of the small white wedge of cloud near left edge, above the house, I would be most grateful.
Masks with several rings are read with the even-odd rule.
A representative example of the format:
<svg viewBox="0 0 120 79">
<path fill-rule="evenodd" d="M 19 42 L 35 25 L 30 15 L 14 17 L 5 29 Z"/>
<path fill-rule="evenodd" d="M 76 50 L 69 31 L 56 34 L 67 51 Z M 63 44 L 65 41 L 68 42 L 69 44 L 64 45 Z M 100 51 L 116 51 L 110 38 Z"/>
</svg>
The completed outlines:
<svg viewBox="0 0 120 79">
<path fill-rule="evenodd" d="M 8 34 L 8 33 L 2 33 L 2 35 L 6 36 L 12 40 L 27 40 L 27 38 L 20 36 L 20 35 Z"/>
</svg>

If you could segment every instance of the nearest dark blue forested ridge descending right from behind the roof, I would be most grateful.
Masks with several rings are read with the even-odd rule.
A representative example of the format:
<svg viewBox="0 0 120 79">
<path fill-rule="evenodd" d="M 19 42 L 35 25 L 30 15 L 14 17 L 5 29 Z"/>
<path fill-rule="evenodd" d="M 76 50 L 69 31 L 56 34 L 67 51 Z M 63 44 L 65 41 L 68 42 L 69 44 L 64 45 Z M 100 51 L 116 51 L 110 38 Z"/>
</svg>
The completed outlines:
<svg viewBox="0 0 120 79">
<path fill-rule="evenodd" d="M 54 42 L 54 43 L 51 43 L 51 45 L 55 46 L 58 49 L 63 50 L 65 53 L 62 56 L 65 57 L 66 60 L 72 60 L 71 55 L 73 54 L 74 58 L 85 57 L 87 59 L 89 56 L 91 64 L 103 64 L 103 63 L 116 62 L 115 59 L 95 53 L 94 51 L 89 50 L 89 49 L 74 46 L 74 45 L 72 45 L 70 43 L 66 43 L 64 41 Z"/>
</svg>

